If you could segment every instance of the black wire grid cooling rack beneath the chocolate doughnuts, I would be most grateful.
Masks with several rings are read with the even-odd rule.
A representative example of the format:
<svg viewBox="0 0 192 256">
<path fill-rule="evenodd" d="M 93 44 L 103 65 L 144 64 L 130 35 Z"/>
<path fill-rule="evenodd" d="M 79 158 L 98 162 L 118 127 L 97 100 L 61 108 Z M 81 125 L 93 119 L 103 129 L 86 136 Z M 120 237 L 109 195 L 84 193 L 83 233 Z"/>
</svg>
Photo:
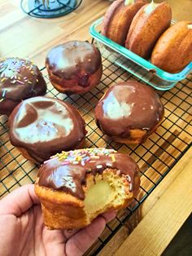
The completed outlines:
<svg viewBox="0 0 192 256">
<path fill-rule="evenodd" d="M 103 77 L 100 84 L 85 95 L 62 95 L 50 84 L 46 68 L 42 73 L 48 85 L 47 96 L 63 99 L 73 104 L 80 111 L 86 122 L 85 147 L 115 148 L 129 153 L 141 169 L 140 193 L 127 209 L 120 211 L 116 219 L 109 223 L 98 241 L 87 251 L 86 255 L 95 255 L 103 249 L 111 237 L 123 227 L 131 214 L 146 197 L 158 186 L 177 161 L 190 148 L 192 126 L 192 75 L 169 91 L 158 91 L 165 108 L 164 121 L 158 130 L 147 139 L 146 143 L 126 145 L 115 143 L 98 129 L 94 121 L 94 107 L 98 99 L 113 83 L 127 81 L 133 76 L 122 68 L 103 59 Z M 6 196 L 25 183 L 33 183 L 37 176 L 37 166 L 27 161 L 14 148 L 8 137 L 7 117 L 0 116 L 0 197 Z"/>
</svg>

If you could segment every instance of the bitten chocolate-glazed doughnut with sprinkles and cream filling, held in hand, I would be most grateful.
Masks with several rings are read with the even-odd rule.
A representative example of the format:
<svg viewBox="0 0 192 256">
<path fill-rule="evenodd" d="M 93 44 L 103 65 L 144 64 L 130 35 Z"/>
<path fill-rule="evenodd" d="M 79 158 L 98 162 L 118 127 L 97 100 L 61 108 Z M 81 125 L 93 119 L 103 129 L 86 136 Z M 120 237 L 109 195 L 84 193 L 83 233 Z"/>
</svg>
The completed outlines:
<svg viewBox="0 0 192 256">
<path fill-rule="evenodd" d="M 41 166 L 35 192 L 50 229 L 81 228 L 109 210 L 119 210 L 137 196 L 137 163 L 107 148 L 62 152 Z"/>
</svg>

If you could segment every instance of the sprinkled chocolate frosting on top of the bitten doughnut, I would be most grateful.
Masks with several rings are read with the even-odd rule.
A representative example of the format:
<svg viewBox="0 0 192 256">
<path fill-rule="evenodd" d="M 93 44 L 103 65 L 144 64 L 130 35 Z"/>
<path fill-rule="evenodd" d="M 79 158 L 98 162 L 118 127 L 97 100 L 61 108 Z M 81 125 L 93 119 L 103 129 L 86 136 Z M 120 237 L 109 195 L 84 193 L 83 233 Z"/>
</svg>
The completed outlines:
<svg viewBox="0 0 192 256">
<path fill-rule="evenodd" d="M 86 148 L 62 152 L 44 162 L 38 172 L 38 185 L 64 191 L 83 200 L 86 174 L 102 174 L 107 168 L 116 170 L 129 182 L 133 191 L 134 178 L 139 168 L 127 154 L 106 148 Z"/>
</svg>

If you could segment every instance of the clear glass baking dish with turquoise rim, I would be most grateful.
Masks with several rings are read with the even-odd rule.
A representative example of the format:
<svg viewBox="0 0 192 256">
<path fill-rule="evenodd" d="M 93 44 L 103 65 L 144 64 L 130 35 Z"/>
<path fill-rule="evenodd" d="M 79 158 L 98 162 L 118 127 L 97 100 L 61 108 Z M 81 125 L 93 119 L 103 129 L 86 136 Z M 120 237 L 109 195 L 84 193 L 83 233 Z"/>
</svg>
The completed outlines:
<svg viewBox="0 0 192 256">
<path fill-rule="evenodd" d="M 175 84 L 187 77 L 192 70 L 192 62 L 188 64 L 180 73 L 167 73 L 157 68 L 150 61 L 134 54 L 132 51 L 120 46 L 109 38 L 104 37 L 100 31 L 103 17 L 94 21 L 89 28 L 89 33 L 96 39 L 97 46 L 102 55 L 112 63 L 119 65 L 142 81 L 155 87 L 158 90 L 169 90 Z"/>
</svg>

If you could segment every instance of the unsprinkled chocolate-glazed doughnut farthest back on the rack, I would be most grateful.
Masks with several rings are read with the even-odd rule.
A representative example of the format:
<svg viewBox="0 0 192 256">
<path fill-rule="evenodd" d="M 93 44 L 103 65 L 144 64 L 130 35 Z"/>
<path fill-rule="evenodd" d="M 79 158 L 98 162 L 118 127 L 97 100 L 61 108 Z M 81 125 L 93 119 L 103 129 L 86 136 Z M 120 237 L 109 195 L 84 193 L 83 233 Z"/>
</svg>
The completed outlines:
<svg viewBox="0 0 192 256">
<path fill-rule="evenodd" d="M 98 85 L 103 73 L 98 48 L 81 41 L 52 48 L 46 56 L 46 68 L 52 85 L 67 94 L 87 92 Z"/>
</svg>

